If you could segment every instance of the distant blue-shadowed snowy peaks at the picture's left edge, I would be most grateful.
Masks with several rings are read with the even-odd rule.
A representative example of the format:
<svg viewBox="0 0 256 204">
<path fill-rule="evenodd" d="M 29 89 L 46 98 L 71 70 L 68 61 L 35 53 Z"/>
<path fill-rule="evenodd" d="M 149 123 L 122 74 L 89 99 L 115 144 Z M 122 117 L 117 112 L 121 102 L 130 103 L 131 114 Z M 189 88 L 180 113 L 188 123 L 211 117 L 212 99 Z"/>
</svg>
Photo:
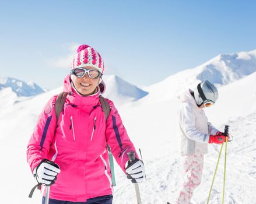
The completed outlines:
<svg viewBox="0 0 256 204">
<path fill-rule="evenodd" d="M 0 90 L 10 87 L 17 96 L 35 96 L 44 90 L 34 82 L 23 82 L 22 80 L 0 76 Z"/>
</svg>

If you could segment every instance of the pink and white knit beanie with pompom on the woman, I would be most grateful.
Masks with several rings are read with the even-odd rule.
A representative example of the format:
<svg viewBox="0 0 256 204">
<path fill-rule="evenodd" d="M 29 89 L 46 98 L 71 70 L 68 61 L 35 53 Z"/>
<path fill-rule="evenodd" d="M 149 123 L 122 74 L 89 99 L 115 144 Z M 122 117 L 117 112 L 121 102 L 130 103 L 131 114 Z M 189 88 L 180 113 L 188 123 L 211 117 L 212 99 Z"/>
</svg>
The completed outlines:
<svg viewBox="0 0 256 204">
<path fill-rule="evenodd" d="M 72 69 L 92 66 L 99 70 L 100 73 L 104 73 L 104 63 L 99 52 L 96 52 L 89 45 L 80 45 L 76 52 L 78 53 L 73 59 Z"/>
</svg>

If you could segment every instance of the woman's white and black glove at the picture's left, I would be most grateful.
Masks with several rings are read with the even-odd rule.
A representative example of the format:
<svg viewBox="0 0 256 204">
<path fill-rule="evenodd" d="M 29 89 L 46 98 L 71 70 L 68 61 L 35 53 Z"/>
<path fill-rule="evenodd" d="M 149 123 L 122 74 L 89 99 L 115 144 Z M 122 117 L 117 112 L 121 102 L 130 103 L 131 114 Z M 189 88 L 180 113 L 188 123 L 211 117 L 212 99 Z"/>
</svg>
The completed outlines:
<svg viewBox="0 0 256 204">
<path fill-rule="evenodd" d="M 41 184 L 52 185 L 60 172 L 58 164 L 45 159 L 36 168 L 36 180 Z"/>
</svg>

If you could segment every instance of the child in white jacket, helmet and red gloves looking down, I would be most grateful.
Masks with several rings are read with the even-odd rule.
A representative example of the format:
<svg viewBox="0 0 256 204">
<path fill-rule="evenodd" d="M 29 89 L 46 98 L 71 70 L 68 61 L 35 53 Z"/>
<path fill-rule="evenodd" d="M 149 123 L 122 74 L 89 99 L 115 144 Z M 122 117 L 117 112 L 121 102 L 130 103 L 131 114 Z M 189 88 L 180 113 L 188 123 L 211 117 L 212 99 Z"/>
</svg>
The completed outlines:
<svg viewBox="0 0 256 204">
<path fill-rule="evenodd" d="M 194 189 L 201 182 L 208 143 L 222 144 L 225 135 L 208 122 L 203 110 L 218 99 L 218 90 L 208 80 L 199 83 L 194 92 L 188 90 L 179 99 L 178 136 L 181 138 L 181 155 L 184 159 L 184 182 L 176 203 L 189 204 Z"/>
</svg>

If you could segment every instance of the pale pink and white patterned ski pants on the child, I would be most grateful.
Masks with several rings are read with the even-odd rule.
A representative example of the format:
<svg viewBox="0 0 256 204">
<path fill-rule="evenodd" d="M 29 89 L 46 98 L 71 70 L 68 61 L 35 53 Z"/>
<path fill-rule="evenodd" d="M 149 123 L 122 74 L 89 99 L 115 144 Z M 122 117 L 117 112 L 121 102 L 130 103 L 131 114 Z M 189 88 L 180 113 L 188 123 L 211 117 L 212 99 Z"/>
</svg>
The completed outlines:
<svg viewBox="0 0 256 204">
<path fill-rule="evenodd" d="M 187 154 L 183 160 L 184 181 L 176 204 L 190 204 L 193 191 L 201 183 L 204 154 Z"/>
</svg>

